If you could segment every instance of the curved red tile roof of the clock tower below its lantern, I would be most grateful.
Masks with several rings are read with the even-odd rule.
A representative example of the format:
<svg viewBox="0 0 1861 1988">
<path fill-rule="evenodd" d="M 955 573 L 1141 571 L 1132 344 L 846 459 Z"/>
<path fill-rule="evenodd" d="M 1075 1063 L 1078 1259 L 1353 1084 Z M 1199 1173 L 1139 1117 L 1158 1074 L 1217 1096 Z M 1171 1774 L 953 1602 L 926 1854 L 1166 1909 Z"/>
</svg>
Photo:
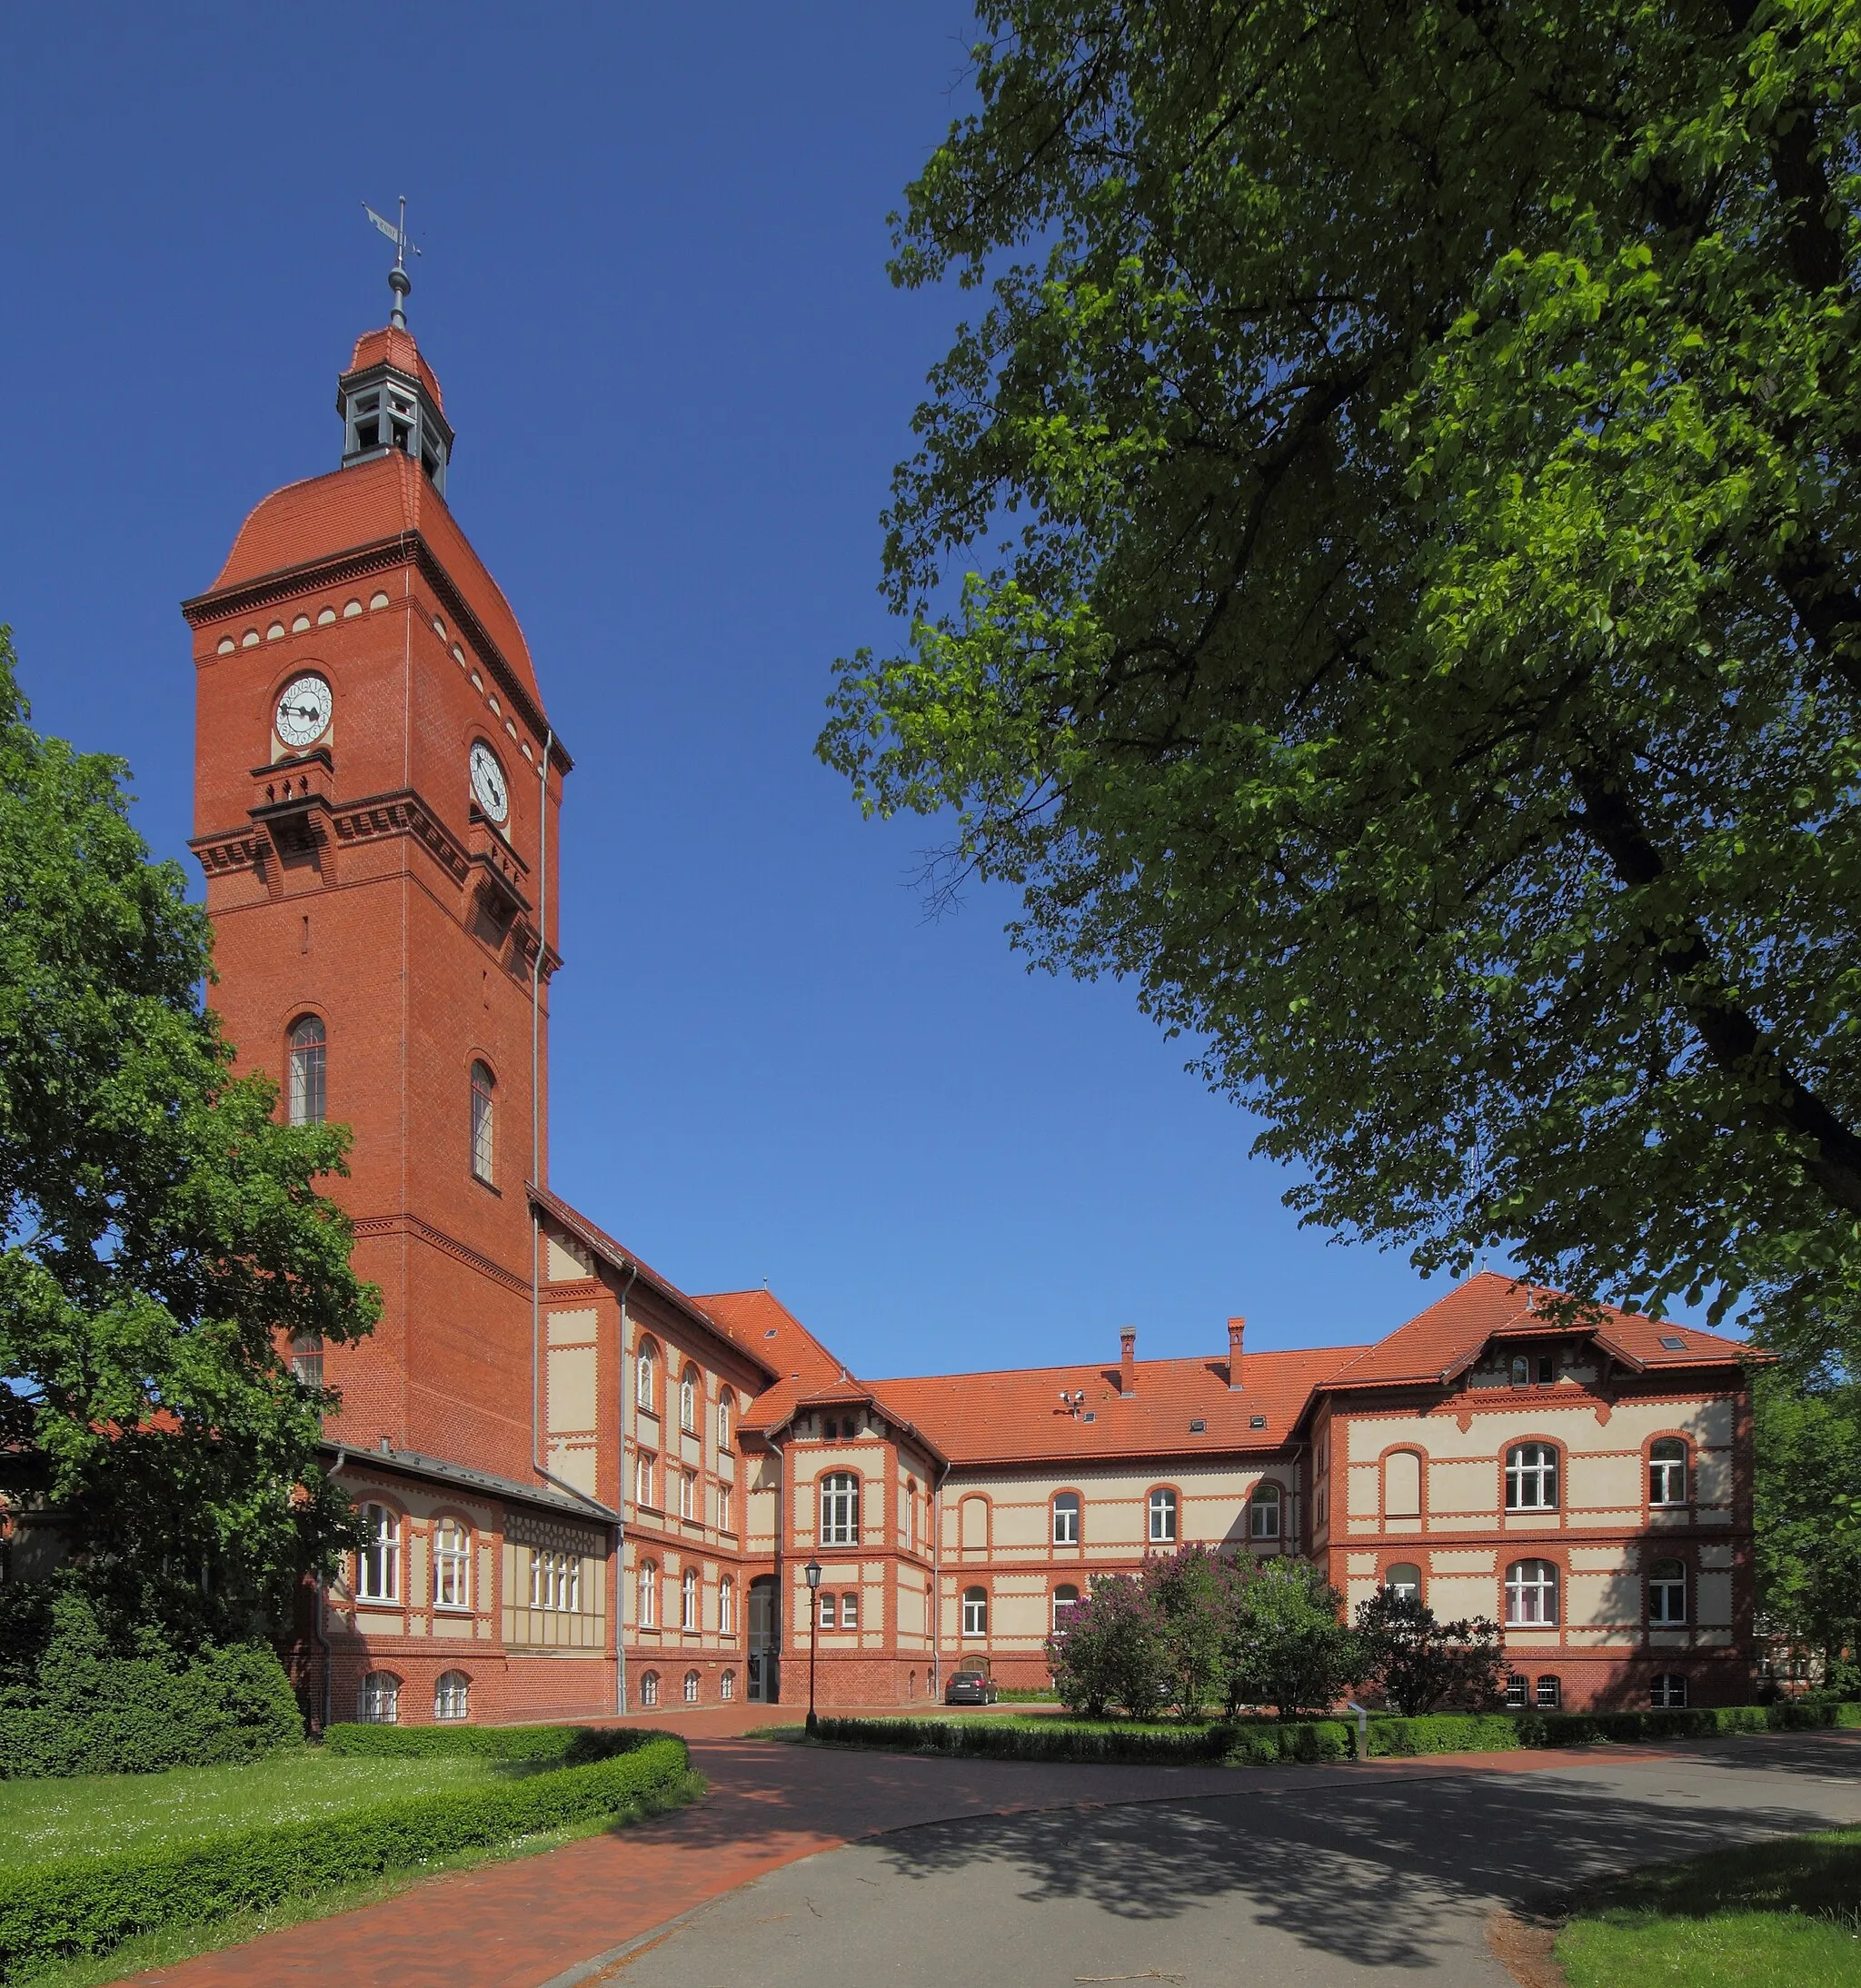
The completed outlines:
<svg viewBox="0 0 1861 1988">
<path fill-rule="evenodd" d="M 445 509 L 445 499 L 400 449 L 272 491 L 239 527 L 219 579 L 189 606 L 199 610 L 213 594 L 227 588 L 251 586 L 274 573 L 292 573 L 364 545 L 406 537 L 425 543 L 525 694 L 541 710 L 537 670 L 511 602 Z"/>
</svg>

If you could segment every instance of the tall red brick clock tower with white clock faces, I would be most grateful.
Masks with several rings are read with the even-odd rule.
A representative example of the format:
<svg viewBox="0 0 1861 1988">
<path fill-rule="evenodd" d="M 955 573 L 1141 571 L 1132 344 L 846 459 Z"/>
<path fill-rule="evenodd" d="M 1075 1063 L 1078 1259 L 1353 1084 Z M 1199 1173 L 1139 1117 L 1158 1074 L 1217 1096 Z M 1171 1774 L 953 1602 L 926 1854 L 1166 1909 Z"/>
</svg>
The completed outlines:
<svg viewBox="0 0 1861 1988">
<path fill-rule="evenodd" d="M 354 1129 L 334 1191 L 384 1310 L 324 1356 L 330 1435 L 535 1481 L 525 1183 L 569 755 L 445 505 L 453 431 L 400 294 L 338 410 L 342 465 L 266 497 L 185 602 L 215 1004 L 292 1117 Z"/>
</svg>

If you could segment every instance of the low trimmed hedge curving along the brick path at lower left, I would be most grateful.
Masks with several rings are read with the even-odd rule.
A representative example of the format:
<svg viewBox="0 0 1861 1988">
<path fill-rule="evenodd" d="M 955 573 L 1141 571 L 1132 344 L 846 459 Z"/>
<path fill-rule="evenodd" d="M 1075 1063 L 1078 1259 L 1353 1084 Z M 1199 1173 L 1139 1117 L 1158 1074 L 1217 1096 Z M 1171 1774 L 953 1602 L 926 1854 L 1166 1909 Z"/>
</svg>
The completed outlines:
<svg viewBox="0 0 1861 1988">
<path fill-rule="evenodd" d="M 604 1743 L 610 1736 L 591 1738 Z M 404 1795 L 348 1815 L 231 1829 L 147 1855 L 60 1857 L 0 1875 L 0 1982 L 76 1954 L 109 1952 L 157 1926 L 262 1910 L 384 1871 L 414 1871 L 453 1851 L 636 1815 L 682 1791 L 690 1771 L 684 1740 L 644 1732 L 614 1738 L 626 1745 L 591 1765 Z"/>
</svg>

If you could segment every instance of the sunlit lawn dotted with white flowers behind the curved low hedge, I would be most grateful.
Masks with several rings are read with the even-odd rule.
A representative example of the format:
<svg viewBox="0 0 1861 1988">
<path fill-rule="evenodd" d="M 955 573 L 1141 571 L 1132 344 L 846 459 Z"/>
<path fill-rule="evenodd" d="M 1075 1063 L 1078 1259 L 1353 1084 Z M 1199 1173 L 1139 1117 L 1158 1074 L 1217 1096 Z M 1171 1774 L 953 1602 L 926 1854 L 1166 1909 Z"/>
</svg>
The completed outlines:
<svg viewBox="0 0 1861 1988">
<path fill-rule="evenodd" d="M 0 1871 L 50 1857 L 187 1843 L 245 1823 L 300 1821 L 388 1795 L 469 1787 L 557 1761 L 336 1759 L 304 1747 L 245 1767 L 173 1767 L 0 1781 Z"/>
</svg>

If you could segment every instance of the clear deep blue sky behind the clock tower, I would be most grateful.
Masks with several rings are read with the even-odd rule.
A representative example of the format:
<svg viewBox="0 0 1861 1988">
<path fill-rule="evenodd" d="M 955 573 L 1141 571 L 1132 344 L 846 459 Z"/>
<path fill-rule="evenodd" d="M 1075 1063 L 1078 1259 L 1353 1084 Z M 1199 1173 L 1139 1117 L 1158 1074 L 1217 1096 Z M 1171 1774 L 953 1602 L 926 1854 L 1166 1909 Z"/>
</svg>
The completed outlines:
<svg viewBox="0 0 1861 1988">
<path fill-rule="evenodd" d="M 1253 1125 L 1008 905 L 927 922 L 923 823 L 811 753 L 885 642 L 877 513 L 954 296 L 885 217 L 966 103 L 952 0 L 16 8 L 0 620 L 38 722 L 185 857 L 177 600 L 336 465 L 412 201 L 449 499 L 577 759 L 553 1185 L 688 1290 L 763 1278 L 859 1372 L 1374 1336 L 1434 1290 L 1330 1246 Z M 966 300 L 974 302 L 974 300 Z"/>
</svg>

